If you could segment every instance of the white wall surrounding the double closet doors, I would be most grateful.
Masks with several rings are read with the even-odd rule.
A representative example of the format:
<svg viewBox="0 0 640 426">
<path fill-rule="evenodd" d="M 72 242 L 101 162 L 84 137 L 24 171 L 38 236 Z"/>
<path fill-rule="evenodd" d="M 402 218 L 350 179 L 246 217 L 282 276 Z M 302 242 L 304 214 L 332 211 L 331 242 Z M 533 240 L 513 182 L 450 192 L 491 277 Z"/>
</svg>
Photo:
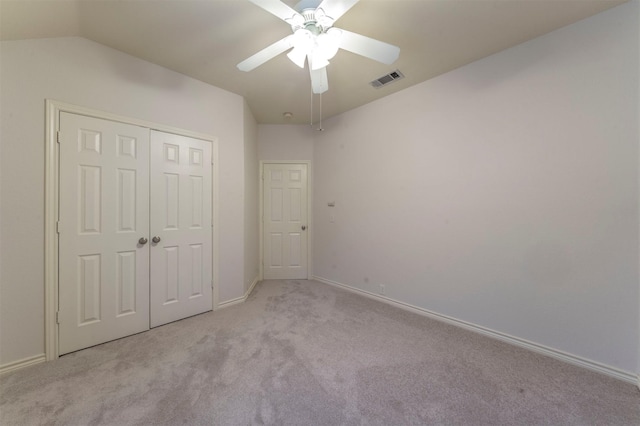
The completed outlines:
<svg viewBox="0 0 640 426">
<path fill-rule="evenodd" d="M 219 296 L 242 296 L 243 99 L 80 38 L 2 42 L 0 54 L 0 365 L 44 351 L 46 98 L 219 138 Z"/>
</svg>

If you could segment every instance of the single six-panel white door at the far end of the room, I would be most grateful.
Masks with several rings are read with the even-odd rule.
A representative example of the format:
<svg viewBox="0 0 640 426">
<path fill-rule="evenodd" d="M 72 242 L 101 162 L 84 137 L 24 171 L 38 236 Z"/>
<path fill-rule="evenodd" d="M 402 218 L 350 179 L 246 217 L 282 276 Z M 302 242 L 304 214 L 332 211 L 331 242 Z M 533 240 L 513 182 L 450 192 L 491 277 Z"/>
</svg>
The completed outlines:
<svg viewBox="0 0 640 426">
<path fill-rule="evenodd" d="M 307 278 L 307 165 L 263 169 L 263 277 Z"/>
</svg>

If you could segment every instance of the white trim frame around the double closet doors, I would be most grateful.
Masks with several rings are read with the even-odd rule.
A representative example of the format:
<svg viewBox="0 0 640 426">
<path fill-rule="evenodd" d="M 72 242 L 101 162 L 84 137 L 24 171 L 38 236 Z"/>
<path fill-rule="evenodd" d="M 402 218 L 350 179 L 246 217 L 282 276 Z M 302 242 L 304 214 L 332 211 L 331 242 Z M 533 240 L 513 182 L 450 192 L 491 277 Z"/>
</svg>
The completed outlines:
<svg viewBox="0 0 640 426">
<path fill-rule="evenodd" d="M 212 280 L 213 280 L 213 309 L 217 309 L 218 296 L 218 138 L 204 133 L 192 132 L 176 127 L 136 118 L 124 117 L 91 108 L 72 105 L 52 99 L 45 99 L 45 215 L 44 215 L 44 328 L 45 328 L 45 357 L 47 361 L 58 358 L 58 324 L 56 313 L 58 311 L 58 260 L 59 245 L 57 222 L 59 220 L 59 165 L 60 154 L 58 150 L 58 131 L 60 130 L 60 113 L 84 115 L 102 120 L 115 121 L 134 126 L 146 127 L 150 130 L 158 130 L 180 136 L 202 139 L 211 142 L 211 156 L 213 169 L 211 173 L 211 221 L 212 221 Z"/>
</svg>

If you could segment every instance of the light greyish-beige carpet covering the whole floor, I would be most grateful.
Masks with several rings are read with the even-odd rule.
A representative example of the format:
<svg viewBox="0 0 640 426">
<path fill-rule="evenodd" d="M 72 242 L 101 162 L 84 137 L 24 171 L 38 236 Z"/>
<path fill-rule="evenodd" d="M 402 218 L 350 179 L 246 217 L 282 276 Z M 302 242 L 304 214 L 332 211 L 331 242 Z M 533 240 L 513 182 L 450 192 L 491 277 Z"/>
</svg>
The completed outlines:
<svg viewBox="0 0 640 426">
<path fill-rule="evenodd" d="M 313 281 L 3 376 L 2 425 L 639 425 L 630 384 Z"/>
</svg>

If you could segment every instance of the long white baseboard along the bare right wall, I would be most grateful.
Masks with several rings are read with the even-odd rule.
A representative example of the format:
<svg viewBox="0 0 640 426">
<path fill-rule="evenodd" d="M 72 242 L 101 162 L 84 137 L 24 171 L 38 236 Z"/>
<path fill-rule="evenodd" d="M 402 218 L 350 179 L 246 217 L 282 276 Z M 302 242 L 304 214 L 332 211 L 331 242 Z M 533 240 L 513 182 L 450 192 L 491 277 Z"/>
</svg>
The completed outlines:
<svg viewBox="0 0 640 426">
<path fill-rule="evenodd" d="M 447 315 L 442 315 L 437 312 L 429 311 L 427 309 L 419 308 L 417 306 L 413 306 L 411 304 L 400 302 L 398 300 L 394 300 L 388 298 L 386 296 L 382 296 L 379 294 L 371 293 L 366 290 L 361 290 L 359 288 L 351 287 L 349 285 L 339 283 L 337 281 L 329 280 L 323 277 L 314 276 L 314 280 L 319 281 L 324 284 L 328 284 L 334 287 L 340 287 L 352 293 L 357 293 L 363 295 L 365 297 L 369 297 L 371 299 L 375 299 L 389 305 L 396 306 L 400 309 L 404 309 L 406 311 L 414 312 L 419 315 L 423 315 L 429 318 L 433 318 L 438 321 L 445 322 L 447 324 L 455 325 L 466 330 L 474 331 L 476 333 L 483 334 L 485 336 L 501 340 L 503 342 L 519 346 L 521 348 L 525 348 L 531 350 L 533 352 L 537 352 L 543 355 L 550 356 L 552 358 L 558 359 L 560 361 L 567 362 L 569 364 L 577 365 L 579 367 L 584 367 L 592 371 L 597 371 L 602 374 L 606 374 L 607 376 L 616 378 L 618 380 L 623 380 L 628 383 L 632 383 L 640 388 L 640 375 L 636 375 L 634 373 L 620 370 L 616 367 L 612 367 L 606 364 L 599 363 L 597 361 L 592 361 L 590 359 L 586 359 L 577 355 L 573 355 L 567 352 L 563 352 L 557 349 L 553 349 L 544 345 L 540 345 L 535 342 L 531 342 L 525 339 L 521 339 L 519 337 L 511 336 L 505 333 L 501 333 L 499 331 L 495 331 L 481 325 L 473 324 L 467 321 L 459 320 Z"/>
</svg>

